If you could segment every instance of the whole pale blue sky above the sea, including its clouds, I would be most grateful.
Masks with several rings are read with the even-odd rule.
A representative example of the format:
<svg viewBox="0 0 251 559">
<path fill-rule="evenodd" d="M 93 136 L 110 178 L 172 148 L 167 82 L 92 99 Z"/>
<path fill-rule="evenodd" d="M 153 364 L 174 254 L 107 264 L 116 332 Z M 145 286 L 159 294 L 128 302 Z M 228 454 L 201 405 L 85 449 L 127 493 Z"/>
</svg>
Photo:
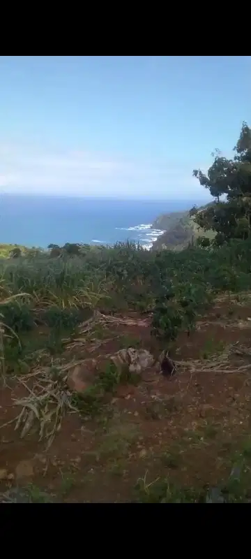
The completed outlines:
<svg viewBox="0 0 251 559">
<path fill-rule="evenodd" d="M 251 57 L 0 57 L 1 192 L 195 199 L 251 121 Z"/>
</svg>

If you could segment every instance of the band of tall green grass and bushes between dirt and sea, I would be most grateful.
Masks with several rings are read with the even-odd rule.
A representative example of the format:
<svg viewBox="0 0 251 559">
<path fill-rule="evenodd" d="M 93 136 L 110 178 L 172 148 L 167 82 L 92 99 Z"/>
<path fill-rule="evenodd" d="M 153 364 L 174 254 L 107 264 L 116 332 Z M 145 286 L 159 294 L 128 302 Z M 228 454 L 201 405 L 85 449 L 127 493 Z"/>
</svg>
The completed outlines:
<svg viewBox="0 0 251 559">
<path fill-rule="evenodd" d="M 0 266 L 1 297 L 26 293 L 30 299 L 2 305 L 3 322 L 15 332 L 36 324 L 69 331 L 95 308 L 151 311 L 153 334 L 169 343 L 194 328 L 214 293 L 250 289 L 250 267 L 251 239 L 181 252 L 149 252 L 127 242 L 78 256 L 8 259 Z"/>
</svg>

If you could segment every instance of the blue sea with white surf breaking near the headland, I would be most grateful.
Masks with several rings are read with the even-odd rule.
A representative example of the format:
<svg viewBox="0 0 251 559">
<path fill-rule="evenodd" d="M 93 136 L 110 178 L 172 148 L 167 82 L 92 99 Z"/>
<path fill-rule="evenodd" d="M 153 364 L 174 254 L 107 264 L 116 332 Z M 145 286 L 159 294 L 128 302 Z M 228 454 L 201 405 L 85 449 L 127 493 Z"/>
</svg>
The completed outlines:
<svg viewBox="0 0 251 559">
<path fill-rule="evenodd" d="M 51 242 L 113 245 L 129 239 L 149 248 L 162 233 L 151 229 L 154 219 L 194 203 L 1 194 L 0 243 L 46 248 Z"/>
</svg>

